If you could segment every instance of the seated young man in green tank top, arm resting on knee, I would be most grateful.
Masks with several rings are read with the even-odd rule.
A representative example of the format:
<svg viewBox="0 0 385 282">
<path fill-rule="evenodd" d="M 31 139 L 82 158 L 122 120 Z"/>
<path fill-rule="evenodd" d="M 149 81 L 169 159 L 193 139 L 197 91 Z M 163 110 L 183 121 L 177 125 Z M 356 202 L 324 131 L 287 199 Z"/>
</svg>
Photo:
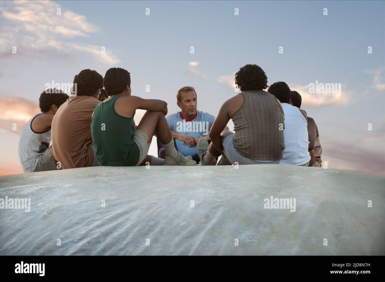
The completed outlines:
<svg viewBox="0 0 385 282">
<path fill-rule="evenodd" d="M 110 68 L 104 76 L 104 88 L 110 97 L 100 103 L 91 120 L 92 139 L 102 166 L 182 165 L 195 161 L 177 152 L 165 115 L 167 103 L 131 95 L 130 73 L 122 68 Z M 144 109 L 136 127 L 134 115 Z M 156 134 L 166 150 L 165 159 L 147 155 Z"/>
</svg>

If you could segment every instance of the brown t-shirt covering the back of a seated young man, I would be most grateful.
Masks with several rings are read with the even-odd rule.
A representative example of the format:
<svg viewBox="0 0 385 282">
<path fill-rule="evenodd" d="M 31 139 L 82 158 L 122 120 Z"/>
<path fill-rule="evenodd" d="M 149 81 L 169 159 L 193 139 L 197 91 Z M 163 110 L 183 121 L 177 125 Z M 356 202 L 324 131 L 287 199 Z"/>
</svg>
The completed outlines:
<svg viewBox="0 0 385 282">
<path fill-rule="evenodd" d="M 91 96 L 70 97 L 52 120 L 54 158 L 63 169 L 91 166 L 91 116 L 99 100 Z"/>
</svg>

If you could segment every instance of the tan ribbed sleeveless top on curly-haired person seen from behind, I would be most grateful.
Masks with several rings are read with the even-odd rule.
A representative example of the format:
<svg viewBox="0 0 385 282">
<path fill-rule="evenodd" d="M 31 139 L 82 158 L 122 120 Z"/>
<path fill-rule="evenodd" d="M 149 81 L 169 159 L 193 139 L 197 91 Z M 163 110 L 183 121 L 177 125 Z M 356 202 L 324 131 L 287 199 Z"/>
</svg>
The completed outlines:
<svg viewBox="0 0 385 282">
<path fill-rule="evenodd" d="M 253 160 L 282 159 L 285 119 L 279 102 L 263 90 L 244 91 L 241 95 L 244 103 L 232 117 L 234 148 L 245 158 Z"/>
</svg>

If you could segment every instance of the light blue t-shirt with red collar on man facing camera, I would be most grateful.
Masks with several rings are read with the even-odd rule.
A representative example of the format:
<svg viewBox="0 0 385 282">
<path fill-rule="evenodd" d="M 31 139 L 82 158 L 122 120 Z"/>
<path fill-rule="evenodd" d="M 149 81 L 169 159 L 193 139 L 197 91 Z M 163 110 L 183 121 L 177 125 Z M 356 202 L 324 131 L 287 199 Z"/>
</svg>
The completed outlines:
<svg viewBox="0 0 385 282">
<path fill-rule="evenodd" d="M 166 120 L 171 131 L 183 135 L 194 136 L 195 138 L 203 138 L 207 136 L 214 119 L 215 116 L 202 111 L 196 111 L 195 117 L 187 121 L 183 119 L 181 112 L 166 116 Z M 179 141 L 178 139 L 175 141 L 177 150 L 184 156 L 193 156 L 196 154 L 196 147 L 189 148 L 189 146 L 184 146 L 183 141 Z"/>
</svg>

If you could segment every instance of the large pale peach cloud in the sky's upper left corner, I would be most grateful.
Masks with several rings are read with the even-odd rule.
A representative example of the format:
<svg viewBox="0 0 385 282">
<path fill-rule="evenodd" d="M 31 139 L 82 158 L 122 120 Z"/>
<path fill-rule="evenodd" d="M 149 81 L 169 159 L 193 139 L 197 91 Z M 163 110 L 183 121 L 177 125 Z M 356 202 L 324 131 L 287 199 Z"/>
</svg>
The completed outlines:
<svg viewBox="0 0 385 282">
<path fill-rule="evenodd" d="M 57 9 L 61 15 L 57 15 Z M 73 51 L 89 53 L 106 65 L 119 63 L 110 50 L 101 52 L 102 46 L 85 45 L 71 41 L 75 37 L 88 37 L 98 28 L 87 22 L 84 15 L 71 12 L 52 1 L 3 2 L 0 12 L 5 25 L 0 30 L 0 50 L 11 52 L 12 47 L 23 53 L 57 50 L 70 54 Z M 19 53 L 19 52 L 18 52 Z"/>
</svg>

